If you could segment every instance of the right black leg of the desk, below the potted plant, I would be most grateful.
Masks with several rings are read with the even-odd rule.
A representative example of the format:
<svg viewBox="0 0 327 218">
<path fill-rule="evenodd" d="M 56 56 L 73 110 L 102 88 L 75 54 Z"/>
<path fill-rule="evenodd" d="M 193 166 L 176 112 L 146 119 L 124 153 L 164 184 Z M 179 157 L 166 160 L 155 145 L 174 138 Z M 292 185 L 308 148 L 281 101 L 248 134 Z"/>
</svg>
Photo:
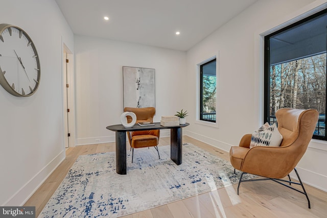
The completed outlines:
<svg viewBox="0 0 327 218">
<path fill-rule="evenodd" d="M 170 159 L 177 165 L 182 163 L 182 128 L 170 129 Z"/>
</svg>

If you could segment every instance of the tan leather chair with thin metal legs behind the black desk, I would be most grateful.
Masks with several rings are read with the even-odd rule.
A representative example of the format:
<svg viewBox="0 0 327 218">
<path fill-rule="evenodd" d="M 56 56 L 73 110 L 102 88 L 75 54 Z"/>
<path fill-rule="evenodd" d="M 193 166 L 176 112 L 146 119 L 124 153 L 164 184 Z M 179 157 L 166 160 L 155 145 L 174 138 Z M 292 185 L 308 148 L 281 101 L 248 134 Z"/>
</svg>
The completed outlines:
<svg viewBox="0 0 327 218">
<path fill-rule="evenodd" d="M 133 112 L 136 115 L 136 123 L 143 122 L 153 122 L 153 116 L 155 114 L 154 107 L 147 108 L 131 108 L 125 107 L 124 112 Z M 130 123 L 132 118 L 127 116 L 127 122 Z M 132 162 L 134 157 L 134 148 L 144 148 L 144 147 L 154 147 L 159 155 L 158 144 L 160 137 L 160 130 L 144 130 L 144 131 L 133 131 L 127 132 L 127 137 L 129 140 L 129 144 L 132 149 Z"/>
</svg>

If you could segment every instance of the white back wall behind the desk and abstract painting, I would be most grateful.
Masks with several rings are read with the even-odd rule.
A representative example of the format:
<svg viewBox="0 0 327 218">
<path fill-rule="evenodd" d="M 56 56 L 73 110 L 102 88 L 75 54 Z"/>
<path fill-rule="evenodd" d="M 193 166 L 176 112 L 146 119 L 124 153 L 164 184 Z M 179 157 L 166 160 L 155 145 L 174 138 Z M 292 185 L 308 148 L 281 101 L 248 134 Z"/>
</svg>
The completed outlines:
<svg viewBox="0 0 327 218">
<path fill-rule="evenodd" d="M 123 66 L 155 69 L 154 122 L 184 107 L 185 52 L 79 35 L 74 42 L 77 145 L 114 141 L 106 127 L 120 124 Z"/>
</svg>

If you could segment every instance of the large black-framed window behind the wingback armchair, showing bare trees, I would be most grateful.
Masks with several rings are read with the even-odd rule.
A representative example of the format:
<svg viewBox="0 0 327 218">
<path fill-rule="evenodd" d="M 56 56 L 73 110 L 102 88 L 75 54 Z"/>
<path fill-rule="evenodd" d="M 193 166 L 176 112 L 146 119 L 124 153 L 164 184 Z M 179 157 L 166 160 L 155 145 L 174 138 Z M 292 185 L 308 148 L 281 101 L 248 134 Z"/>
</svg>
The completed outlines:
<svg viewBox="0 0 327 218">
<path fill-rule="evenodd" d="M 265 122 L 279 108 L 317 109 L 313 138 L 327 140 L 327 9 L 265 37 Z"/>
</svg>

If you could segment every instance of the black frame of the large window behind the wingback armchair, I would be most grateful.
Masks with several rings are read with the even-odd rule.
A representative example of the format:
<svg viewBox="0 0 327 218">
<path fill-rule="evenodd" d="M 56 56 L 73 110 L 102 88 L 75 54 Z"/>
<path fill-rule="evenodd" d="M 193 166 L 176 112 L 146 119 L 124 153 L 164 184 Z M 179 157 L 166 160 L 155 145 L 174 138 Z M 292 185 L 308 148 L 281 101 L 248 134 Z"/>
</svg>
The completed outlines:
<svg viewBox="0 0 327 218">
<path fill-rule="evenodd" d="M 275 36 L 279 33 L 282 33 L 286 30 L 293 29 L 299 25 L 302 25 L 303 23 L 306 23 L 314 18 L 317 18 L 321 15 L 327 14 L 327 9 L 323 9 L 317 13 L 314 13 L 306 18 L 303 18 L 301 20 L 298 20 L 291 25 L 288 25 L 287 27 L 284 27 L 280 30 L 274 31 L 273 33 L 270 33 L 264 37 L 264 123 L 268 122 L 270 123 L 270 104 L 269 104 L 269 98 L 270 98 L 270 43 L 269 39 L 272 36 Z M 327 39 L 326 39 L 327 40 Z M 327 71 L 327 66 L 326 66 Z M 326 74 L 326 98 L 325 98 L 325 111 L 327 112 L 327 74 Z M 325 119 L 325 124 L 327 124 L 327 119 Z M 319 136 L 319 135 L 313 135 L 313 139 L 318 140 L 324 140 L 327 141 L 327 134 L 325 136 Z"/>
</svg>

